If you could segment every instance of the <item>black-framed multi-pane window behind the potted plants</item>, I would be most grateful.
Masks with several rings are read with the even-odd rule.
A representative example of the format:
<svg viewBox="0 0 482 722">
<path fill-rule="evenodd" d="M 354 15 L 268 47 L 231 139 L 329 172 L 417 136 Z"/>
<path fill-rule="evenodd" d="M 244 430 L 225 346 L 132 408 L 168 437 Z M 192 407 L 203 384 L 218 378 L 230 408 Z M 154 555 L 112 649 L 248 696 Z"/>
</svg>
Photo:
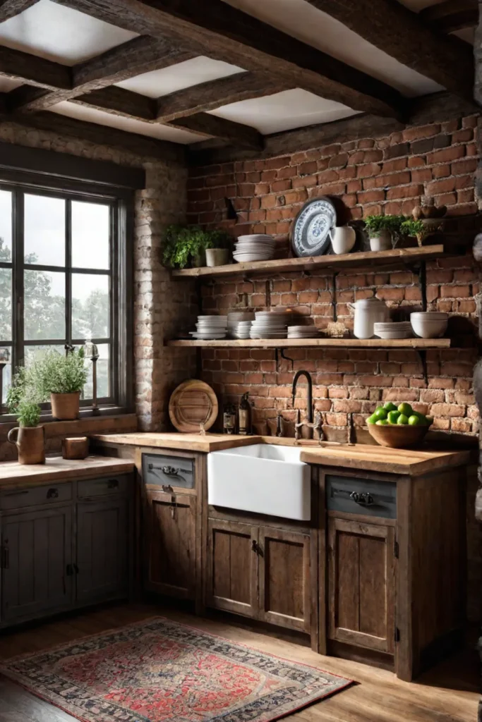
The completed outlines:
<svg viewBox="0 0 482 722">
<path fill-rule="evenodd" d="M 77 184 L 79 185 L 79 184 Z M 98 403 L 129 405 L 125 199 L 1 182 L 0 348 L 12 369 L 43 349 L 98 345 Z M 92 399 L 92 365 L 82 406 Z"/>
</svg>

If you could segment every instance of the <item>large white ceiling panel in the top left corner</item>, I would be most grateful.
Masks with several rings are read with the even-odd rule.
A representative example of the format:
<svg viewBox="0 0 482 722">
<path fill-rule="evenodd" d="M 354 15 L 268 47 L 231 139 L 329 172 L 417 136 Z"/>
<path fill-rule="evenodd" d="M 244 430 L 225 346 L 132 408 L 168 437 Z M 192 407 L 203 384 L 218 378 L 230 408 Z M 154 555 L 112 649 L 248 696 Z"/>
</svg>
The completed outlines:
<svg viewBox="0 0 482 722">
<path fill-rule="evenodd" d="M 81 63 L 132 38 L 137 33 L 50 0 L 0 24 L 0 45 L 64 65 Z"/>
</svg>

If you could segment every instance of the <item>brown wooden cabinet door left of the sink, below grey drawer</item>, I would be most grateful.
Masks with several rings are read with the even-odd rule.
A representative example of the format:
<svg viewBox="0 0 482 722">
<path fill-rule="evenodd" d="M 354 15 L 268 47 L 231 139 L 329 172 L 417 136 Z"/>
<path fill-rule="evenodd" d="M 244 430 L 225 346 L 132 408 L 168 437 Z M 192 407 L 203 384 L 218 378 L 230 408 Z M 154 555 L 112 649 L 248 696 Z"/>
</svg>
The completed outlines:
<svg viewBox="0 0 482 722">
<path fill-rule="evenodd" d="M 194 496 L 146 491 L 147 569 L 151 591 L 194 599 L 196 502 Z"/>
</svg>

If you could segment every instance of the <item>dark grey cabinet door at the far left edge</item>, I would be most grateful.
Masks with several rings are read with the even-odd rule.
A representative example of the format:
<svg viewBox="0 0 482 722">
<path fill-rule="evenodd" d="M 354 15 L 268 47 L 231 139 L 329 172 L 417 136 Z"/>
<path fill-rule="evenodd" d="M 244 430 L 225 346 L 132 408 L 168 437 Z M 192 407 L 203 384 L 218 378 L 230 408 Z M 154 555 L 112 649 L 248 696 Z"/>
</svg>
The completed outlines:
<svg viewBox="0 0 482 722">
<path fill-rule="evenodd" d="M 60 612 L 72 604 L 72 508 L 5 516 L 2 620 Z"/>
</svg>

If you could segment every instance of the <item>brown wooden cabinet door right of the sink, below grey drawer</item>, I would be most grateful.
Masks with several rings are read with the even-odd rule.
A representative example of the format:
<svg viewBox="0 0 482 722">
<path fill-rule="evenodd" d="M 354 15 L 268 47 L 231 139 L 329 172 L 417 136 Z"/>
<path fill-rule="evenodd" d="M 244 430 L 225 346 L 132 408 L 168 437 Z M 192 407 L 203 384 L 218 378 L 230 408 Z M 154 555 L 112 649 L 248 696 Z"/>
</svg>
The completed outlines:
<svg viewBox="0 0 482 722">
<path fill-rule="evenodd" d="M 391 526 L 330 519 L 331 639 L 394 652 L 394 542 Z"/>
</svg>

